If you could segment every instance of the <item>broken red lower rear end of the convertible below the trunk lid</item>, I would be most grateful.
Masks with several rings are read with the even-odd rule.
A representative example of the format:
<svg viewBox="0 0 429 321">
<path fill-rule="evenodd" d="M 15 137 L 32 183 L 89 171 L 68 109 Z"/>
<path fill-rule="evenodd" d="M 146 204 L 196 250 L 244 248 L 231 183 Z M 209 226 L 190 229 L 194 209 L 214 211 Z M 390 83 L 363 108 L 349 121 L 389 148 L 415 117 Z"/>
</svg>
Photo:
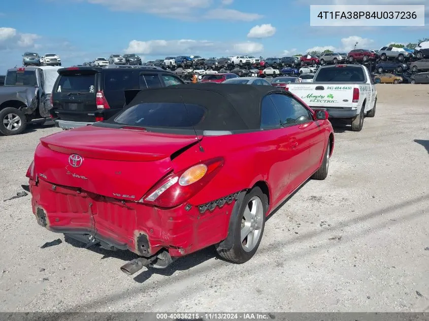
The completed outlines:
<svg viewBox="0 0 429 321">
<path fill-rule="evenodd" d="M 219 243 L 228 234 L 234 197 L 227 201 L 161 209 L 30 180 L 32 211 L 39 225 L 57 233 L 82 235 L 105 248 L 150 257 L 167 249 L 180 257 Z M 228 201 L 230 201 L 228 203 Z"/>
</svg>

